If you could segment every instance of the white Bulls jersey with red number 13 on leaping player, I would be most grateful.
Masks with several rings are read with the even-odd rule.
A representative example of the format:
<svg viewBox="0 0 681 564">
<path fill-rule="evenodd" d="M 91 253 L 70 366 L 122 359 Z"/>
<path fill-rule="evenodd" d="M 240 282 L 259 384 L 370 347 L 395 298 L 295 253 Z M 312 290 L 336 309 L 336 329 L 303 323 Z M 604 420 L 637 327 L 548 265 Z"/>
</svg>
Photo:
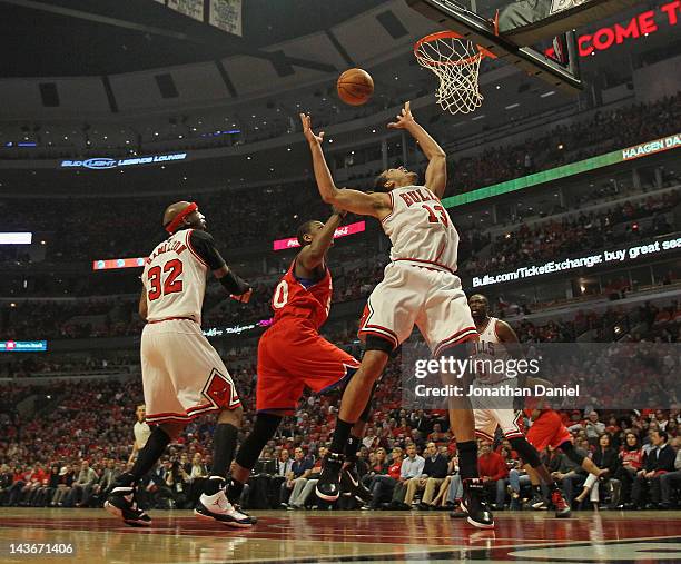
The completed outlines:
<svg viewBox="0 0 681 564">
<path fill-rule="evenodd" d="M 393 211 L 382 224 L 393 244 L 391 259 L 456 271 L 458 234 L 437 196 L 425 186 L 405 186 L 389 195 Z"/>
</svg>

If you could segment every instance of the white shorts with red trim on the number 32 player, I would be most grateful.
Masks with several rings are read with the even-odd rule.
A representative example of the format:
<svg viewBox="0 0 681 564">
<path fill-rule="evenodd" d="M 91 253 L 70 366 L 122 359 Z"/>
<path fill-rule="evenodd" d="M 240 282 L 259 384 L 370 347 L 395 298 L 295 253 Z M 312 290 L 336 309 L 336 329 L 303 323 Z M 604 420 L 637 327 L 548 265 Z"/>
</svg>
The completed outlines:
<svg viewBox="0 0 681 564">
<path fill-rule="evenodd" d="M 217 350 L 189 319 L 147 324 L 141 370 L 148 423 L 182 423 L 240 405 Z"/>
</svg>

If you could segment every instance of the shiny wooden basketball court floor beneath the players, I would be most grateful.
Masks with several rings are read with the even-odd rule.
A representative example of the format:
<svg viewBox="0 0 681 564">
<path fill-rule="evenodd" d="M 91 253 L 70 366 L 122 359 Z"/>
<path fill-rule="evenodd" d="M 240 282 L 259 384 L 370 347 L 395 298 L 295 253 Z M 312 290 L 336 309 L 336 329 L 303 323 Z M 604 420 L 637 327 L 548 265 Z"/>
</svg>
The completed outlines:
<svg viewBox="0 0 681 564">
<path fill-rule="evenodd" d="M 293 563 L 530 562 L 679 563 L 681 512 L 580 512 L 556 520 L 504 512 L 494 531 L 447 513 L 255 512 L 247 531 L 189 512 L 152 513 L 131 528 L 102 509 L 0 509 L 0 562 Z M 10 543 L 72 546 L 72 554 L 10 554 Z"/>
</svg>

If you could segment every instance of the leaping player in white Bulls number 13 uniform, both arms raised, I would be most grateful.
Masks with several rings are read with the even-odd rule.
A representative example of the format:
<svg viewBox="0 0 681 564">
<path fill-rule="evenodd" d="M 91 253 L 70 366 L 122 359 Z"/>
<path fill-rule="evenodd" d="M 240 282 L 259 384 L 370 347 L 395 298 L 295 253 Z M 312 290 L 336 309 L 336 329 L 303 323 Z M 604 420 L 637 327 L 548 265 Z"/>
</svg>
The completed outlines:
<svg viewBox="0 0 681 564">
<path fill-rule="evenodd" d="M 336 208 L 377 218 L 393 244 L 384 279 L 368 298 L 359 327 L 359 334 L 366 338 L 365 354 L 343 394 L 330 453 L 317 483 L 317 495 L 335 501 L 339 495 L 345 444 L 389 354 L 411 335 L 414 325 L 434 356 L 462 354 L 456 346 L 477 340 L 477 332 L 461 280 L 454 274 L 458 234 L 440 201 L 447 181 L 446 155 L 416 123 L 409 102 L 388 127 L 406 129 L 421 146 L 428 159 L 425 186 L 416 184 L 415 172 L 399 167 L 381 174 L 373 194 L 336 188 L 322 151 L 324 133 L 312 131 L 309 116 L 302 113 L 300 119 L 322 199 Z M 494 520 L 477 475 L 477 444 L 467 397 L 450 398 L 450 419 L 457 441 L 468 523 L 491 528 Z"/>
</svg>

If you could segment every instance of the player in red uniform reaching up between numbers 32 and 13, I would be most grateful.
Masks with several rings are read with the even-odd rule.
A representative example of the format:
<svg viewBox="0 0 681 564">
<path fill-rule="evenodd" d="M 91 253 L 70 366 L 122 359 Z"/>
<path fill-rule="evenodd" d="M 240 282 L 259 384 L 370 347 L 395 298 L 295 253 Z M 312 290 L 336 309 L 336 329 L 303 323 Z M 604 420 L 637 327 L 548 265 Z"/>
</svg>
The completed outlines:
<svg viewBox="0 0 681 564">
<path fill-rule="evenodd" d="M 227 488 L 227 496 L 234 502 L 282 418 L 295 413 L 305 387 L 315 393 L 329 392 L 345 385 L 359 367 L 355 358 L 318 333 L 328 317 L 333 294 L 326 254 L 344 216 L 345 212 L 334 210 L 326 224 L 307 221 L 300 226 L 297 235 L 303 249 L 274 291 L 274 323 L 258 343 L 257 417 L 236 456 Z M 345 453 L 351 461 L 356 459 L 368 416 L 367 404 L 347 442 Z M 355 497 L 371 499 L 354 465 L 345 468 L 344 481 Z"/>
</svg>

